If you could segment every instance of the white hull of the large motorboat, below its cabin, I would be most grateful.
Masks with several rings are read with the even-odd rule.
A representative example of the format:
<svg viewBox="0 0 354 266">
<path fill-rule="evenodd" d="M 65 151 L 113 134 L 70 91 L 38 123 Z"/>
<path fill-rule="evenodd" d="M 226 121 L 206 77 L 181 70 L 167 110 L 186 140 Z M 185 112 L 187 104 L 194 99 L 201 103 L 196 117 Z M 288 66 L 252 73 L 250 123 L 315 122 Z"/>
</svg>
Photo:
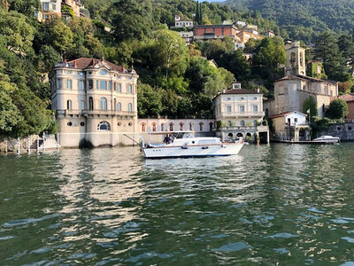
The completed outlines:
<svg viewBox="0 0 354 266">
<path fill-rule="evenodd" d="M 164 146 L 142 149 L 146 159 L 163 158 L 184 158 L 184 157 L 212 157 L 236 155 L 242 149 L 243 144 L 227 145 L 191 145 L 183 146 Z"/>
</svg>

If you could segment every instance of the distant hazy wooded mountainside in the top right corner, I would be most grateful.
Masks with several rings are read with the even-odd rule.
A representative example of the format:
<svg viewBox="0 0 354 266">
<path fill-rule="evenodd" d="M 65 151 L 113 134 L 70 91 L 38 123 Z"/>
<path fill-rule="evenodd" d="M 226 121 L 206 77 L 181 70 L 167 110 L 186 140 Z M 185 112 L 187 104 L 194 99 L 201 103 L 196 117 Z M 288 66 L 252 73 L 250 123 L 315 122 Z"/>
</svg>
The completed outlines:
<svg viewBox="0 0 354 266">
<path fill-rule="evenodd" d="M 259 12 L 286 29 L 290 37 L 306 43 L 313 43 L 325 30 L 351 34 L 354 28 L 354 0 L 227 0 L 222 4 Z"/>
</svg>

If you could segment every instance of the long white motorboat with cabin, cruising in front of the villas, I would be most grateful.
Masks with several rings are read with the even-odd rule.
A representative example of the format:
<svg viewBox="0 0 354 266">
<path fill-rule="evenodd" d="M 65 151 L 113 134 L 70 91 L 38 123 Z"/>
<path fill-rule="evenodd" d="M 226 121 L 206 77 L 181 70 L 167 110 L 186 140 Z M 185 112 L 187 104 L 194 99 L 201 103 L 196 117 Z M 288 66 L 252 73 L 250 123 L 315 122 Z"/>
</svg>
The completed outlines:
<svg viewBox="0 0 354 266">
<path fill-rule="evenodd" d="M 164 143 L 142 145 L 146 159 L 229 156 L 238 154 L 243 146 L 242 139 L 223 143 L 219 137 L 195 137 L 192 131 L 150 132 L 158 134 L 166 136 Z"/>
</svg>

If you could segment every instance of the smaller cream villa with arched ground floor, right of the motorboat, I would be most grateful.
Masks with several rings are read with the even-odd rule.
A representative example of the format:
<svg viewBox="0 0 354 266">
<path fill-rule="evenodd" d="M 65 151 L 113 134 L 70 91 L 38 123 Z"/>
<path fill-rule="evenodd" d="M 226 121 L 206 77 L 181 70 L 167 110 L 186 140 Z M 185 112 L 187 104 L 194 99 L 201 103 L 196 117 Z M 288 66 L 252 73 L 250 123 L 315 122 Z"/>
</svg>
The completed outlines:
<svg viewBox="0 0 354 266">
<path fill-rule="evenodd" d="M 268 127 L 263 125 L 263 94 L 258 90 L 244 90 L 240 82 L 233 82 L 213 98 L 217 136 L 223 140 L 236 137 L 259 137 L 269 142 Z"/>
</svg>

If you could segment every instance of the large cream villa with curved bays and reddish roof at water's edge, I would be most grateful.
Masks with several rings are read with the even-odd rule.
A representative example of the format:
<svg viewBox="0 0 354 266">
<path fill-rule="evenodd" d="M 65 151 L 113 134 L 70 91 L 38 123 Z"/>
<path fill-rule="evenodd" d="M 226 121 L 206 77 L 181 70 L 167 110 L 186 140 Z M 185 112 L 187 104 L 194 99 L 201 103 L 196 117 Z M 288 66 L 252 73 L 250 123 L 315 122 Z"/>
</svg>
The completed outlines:
<svg viewBox="0 0 354 266">
<path fill-rule="evenodd" d="M 101 59 L 58 63 L 50 82 L 61 146 L 132 144 L 124 134 L 138 131 L 137 79 L 134 70 Z"/>
</svg>

